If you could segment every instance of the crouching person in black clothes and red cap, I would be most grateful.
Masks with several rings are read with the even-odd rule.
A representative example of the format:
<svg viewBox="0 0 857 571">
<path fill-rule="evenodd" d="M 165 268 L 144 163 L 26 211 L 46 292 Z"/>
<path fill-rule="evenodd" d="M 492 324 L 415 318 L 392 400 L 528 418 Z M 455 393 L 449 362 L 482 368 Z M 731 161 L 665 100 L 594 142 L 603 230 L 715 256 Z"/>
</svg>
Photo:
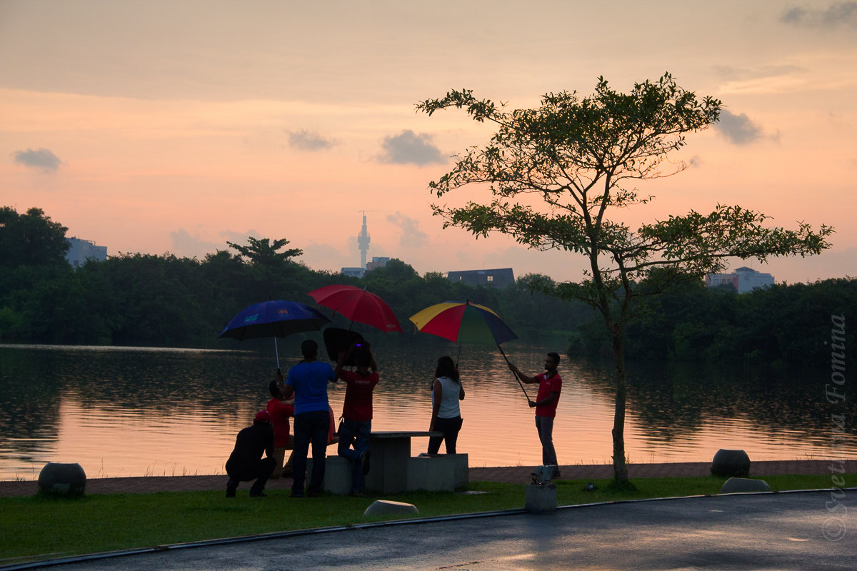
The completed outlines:
<svg viewBox="0 0 857 571">
<path fill-rule="evenodd" d="M 267 457 L 262 458 L 262 453 Z M 240 482 L 255 480 L 250 486 L 250 497 L 264 497 L 268 478 L 274 469 L 273 427 L 267 410 L 256 413 L 253 425 L 238 432 L 235 449 L 226 461 L 226 497 L 235 497 Z"/>
</svg>

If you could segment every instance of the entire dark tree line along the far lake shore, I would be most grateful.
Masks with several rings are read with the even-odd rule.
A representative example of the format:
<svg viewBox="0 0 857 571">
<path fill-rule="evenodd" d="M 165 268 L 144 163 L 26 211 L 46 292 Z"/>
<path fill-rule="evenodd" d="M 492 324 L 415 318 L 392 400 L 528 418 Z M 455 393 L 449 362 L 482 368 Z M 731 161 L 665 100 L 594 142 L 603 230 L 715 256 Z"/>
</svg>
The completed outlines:
<svg viewBox="0 0 857 571">
<path fill-rule="evenodd" d="M 276 299 L 314 305 L 309 291 L 345 283 L 380 295 L 405 331 L 424 307 L 471 300 L 498 312 L 521 339 L 568 338 L 568 354 L 576 357 L 600 359 L 611 350 L 589 306 L 530 287 L 550 281 L 542 275 L 506 288 L 474 287 L 439 272 L 420 276 L 391 259 L 358 279 L 309 269 L 285 239 L 255 238 L 201 260 L 120 253 L 74 269 L 64 259 L 66 230 L 38 208 L 0 208 L 0 342 L 218 348 L 216 336 L 243 307 Z M 824 364 L 833 313 L 857 316 L 857 279 L 776 284 L 748 294 L 693 282 L 648 298 L 624 342 L 633 360 Z M 854 329 L 846 326 L 850 347 Z"/>
</svg>

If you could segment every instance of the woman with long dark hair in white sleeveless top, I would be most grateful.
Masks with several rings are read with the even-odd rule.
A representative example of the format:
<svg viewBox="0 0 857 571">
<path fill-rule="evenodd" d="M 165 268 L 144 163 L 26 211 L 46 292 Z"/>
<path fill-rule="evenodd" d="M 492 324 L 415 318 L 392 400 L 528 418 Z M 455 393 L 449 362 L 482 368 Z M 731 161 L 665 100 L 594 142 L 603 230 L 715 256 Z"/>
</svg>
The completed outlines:
<svg viewBox="0 0 857 571">
<path fill-rule="evenodd" d="M 455 443 L 462 423 L 458 401 L 464 401 L 464 387 L 458 378 L 458 366 L 452 357 L 440 357 L 434 370 L 431 424 L 428 430 L 443 432 L 443 436 L 428 438 L 428 454 L 437 454 L 441 440 L 446 441 L 446 454 L 455 454 Z"/>
</svg>

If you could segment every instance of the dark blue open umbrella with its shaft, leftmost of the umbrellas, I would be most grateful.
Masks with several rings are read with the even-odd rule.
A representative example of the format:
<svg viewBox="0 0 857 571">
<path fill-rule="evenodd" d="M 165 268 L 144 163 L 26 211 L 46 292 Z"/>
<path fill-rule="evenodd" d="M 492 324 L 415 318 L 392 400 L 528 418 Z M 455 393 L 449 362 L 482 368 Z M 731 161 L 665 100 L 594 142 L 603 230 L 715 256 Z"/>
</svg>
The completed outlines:
<svg viewBox="0 0 857 571">
<path fill-rule="evenodd" d="M 279 369 L 277 337 L 301 331 L 321 330 L 321 326 L 327 323 L 330 323 L 330 319 L 323 313 L 303 303 L 285 300 L 263 301 L 244 307 L 226 324 L 218 338 L 229 337 L 243 341 L 257 337 L 273 337 Z"/>
</svg>

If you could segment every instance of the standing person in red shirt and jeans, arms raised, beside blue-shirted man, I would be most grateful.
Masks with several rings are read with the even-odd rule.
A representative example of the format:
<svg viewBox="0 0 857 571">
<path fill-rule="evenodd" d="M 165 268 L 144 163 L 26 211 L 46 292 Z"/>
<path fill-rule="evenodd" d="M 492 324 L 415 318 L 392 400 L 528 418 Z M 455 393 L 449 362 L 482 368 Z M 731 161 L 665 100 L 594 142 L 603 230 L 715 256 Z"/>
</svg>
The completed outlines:
<svg viewBox="0 0 857 571">
<path fill-rule="evenodd" d="M 353 355 L 357 371 L 346 371 L 343 363 Z M 372 391 L 378 384 L 378 366 L 368 344 L 354 344 L 339 354 L 336 378 L 345 381 L 345 403 L 339 428 L 339 455 L 351 460 L 351 495 L 363 493 L 363 476 L 369 473 L 369 433 L 372 431 Z M 353 448 L 351 448 L 353 445 Z"/>
</svg>

